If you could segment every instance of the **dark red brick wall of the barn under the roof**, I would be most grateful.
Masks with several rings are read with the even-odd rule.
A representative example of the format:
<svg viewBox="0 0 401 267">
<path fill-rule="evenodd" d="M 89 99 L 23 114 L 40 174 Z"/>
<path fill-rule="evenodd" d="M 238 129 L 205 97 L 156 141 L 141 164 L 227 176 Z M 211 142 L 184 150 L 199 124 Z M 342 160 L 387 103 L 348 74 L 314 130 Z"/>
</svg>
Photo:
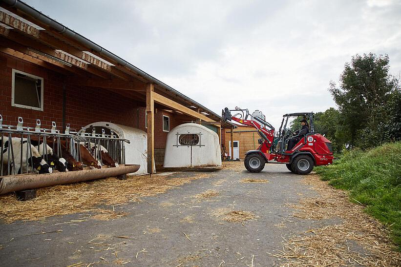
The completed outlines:
<svg viewBox="0 0 401 267">
<path fill-rule="evenodd" d="M 13 68 L 43 78 L 43 111 L 11 106 Z M 24 125 L 35 126 L 36 119 L 40 119 L 43 127 L 50 128 L 51 122 L 55 121 L 57 128 L 61 130 L 64 78 L 63 75 L 52 70 L 0 53 L 0 114 L 3 116 L 3 124 L 16 125 L 17 117 L 21 116 L 24 119 Z M 81 126 L 89 123 L 106 121 L 146 131 L 145 110 L 145 107 L 138 107 L 134 100 L 124 98 L 112 91 L 66 85 L 65 122 L 70 123 L 71 128 L 76 130 L 80 130 Z M 163 115 L 170 118 L 170 130 L 183 121 L 189 120 L 183 116 L 157 109 L 154 119 L 156 149 L 166 146 L 168 132 L 163 131 Z"/>
</svg>

